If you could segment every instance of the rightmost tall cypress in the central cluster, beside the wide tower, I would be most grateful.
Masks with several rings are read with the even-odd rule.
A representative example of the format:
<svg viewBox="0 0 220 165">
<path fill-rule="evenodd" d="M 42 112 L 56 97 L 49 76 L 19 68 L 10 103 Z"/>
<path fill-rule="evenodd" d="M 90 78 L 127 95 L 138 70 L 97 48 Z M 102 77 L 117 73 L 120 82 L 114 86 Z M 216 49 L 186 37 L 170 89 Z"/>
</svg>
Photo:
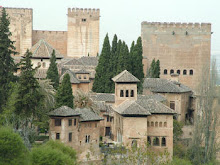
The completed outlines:
<svg viewBox="0 0 220 165">
<path fill-rule="evenodd" d="M 138 83 L 138 92 L 142 92 L 142 83 L 144 78 L 143 71 L 143 49 L 142 49 L 142 40 L 141 37 L 138 37 L 137 43 L 134 46 L 133 50 L 133 75 L 136 76 L 140 82 Z"/>
</svg>

